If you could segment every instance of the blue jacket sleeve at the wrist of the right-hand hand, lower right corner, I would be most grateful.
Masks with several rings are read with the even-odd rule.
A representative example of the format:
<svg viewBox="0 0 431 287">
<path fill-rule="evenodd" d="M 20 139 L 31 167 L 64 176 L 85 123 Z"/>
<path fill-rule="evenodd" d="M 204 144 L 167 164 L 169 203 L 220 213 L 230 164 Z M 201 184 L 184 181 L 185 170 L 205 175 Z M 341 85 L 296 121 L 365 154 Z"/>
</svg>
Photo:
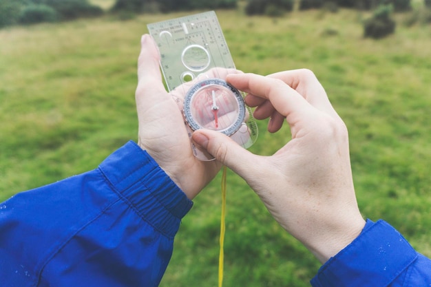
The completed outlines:
<svg viewBox="0 0 431 287">
<path fill-rule="evenodd" d="M 314 287 L 431 286 L 431 260 L 383 220 L 367 220 L 350 245 L 319 269 Z"/>
</svg>

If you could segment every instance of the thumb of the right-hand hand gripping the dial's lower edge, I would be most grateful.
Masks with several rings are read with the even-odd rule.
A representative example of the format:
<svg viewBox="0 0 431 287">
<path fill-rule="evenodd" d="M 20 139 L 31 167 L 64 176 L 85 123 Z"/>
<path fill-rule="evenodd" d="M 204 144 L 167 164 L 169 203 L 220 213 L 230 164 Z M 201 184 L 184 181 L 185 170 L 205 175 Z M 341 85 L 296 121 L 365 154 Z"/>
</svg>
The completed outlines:
<svg viewBox="0 0 431 287">
<path fill-rule="evenodd" d="M 192 138 L 216 160 L 238 173 L 245 180 L 251 176 L 252 171 L 250 169 L 253 167 L 252 163 L 255 162 L 257 156 L 238 145 L 229 136 L 211 129 L 198 129 L 193 132 Z"/>
</svg>

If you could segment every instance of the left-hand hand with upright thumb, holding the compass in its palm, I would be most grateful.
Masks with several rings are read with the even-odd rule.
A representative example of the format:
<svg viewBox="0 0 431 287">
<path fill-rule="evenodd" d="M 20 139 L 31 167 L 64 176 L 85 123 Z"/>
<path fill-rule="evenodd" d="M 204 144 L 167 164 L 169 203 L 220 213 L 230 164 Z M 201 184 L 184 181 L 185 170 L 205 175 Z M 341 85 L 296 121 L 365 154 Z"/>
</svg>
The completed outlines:
<svg viewBox="0 0 431 287">
<path fill-rule="evenodd" d="M 198 160 L 191 151 L 184 119 L 173 95 L 184 98 L 186 87 L 178 87 L 167 93 L 162 83 L 159 54 L 151 36 L 141 39 L 138 59 L 138 87 L 136 107 L 138 109 L 138 145 L 156 160 L 160 167 L 184 191 L 194 198 L 220 170 L 220 162 Z M 225 76 L 231 70 L 218 71 Z M 207 74 L 211 76 L 211 71 Z"/>
</svg>

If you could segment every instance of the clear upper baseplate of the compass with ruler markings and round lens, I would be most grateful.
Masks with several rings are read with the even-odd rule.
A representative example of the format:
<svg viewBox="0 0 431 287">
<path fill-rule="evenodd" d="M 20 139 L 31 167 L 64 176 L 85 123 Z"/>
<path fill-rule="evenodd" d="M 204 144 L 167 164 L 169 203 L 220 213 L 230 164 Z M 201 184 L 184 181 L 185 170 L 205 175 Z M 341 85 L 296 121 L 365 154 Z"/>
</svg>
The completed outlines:
<svg viewBox="0 0 431 287">
<path fill-rule="evenodd" d="M 168 89 L 213 67 L 235 68 L 215 12 L 204 12 L 148 25 L 160 51 Z"/>
</svg>

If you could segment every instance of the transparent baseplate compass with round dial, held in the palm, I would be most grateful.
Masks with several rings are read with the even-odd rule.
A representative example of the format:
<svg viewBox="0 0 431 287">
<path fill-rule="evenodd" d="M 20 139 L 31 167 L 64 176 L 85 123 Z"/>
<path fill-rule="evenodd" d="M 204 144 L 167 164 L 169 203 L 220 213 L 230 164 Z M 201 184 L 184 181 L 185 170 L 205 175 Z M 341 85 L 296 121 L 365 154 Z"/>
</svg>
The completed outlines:
<svg viewBox="0 0 431 287">
<path fill-rule="evenodd" d="M 242 94 L 224 78 L 235 64 L 215 12 L 204 12 L 148 25 L 160 52 L 167 88 L 176 98 L 187 132 L 213 129 L 244 148 L 257 139 L 257 125 Z M 213 160 L 191 140 L 193 154 Z"/>
</svg>

